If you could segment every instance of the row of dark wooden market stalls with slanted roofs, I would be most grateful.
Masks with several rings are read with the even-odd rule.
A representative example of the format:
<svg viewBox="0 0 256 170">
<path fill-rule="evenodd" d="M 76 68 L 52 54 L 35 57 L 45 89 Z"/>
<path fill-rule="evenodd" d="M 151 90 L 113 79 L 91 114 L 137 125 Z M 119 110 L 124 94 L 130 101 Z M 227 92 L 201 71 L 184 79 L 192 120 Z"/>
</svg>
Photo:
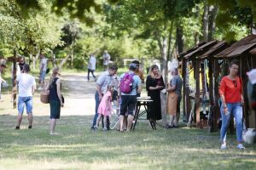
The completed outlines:
<svg viewBox="0 0 256 170">
<path fill-rule="evenodd" d="M 212 132 L 218 128 L 219 111 L 219 95 L 218 84 L 220 81 L 221 70 L 220 65 L 230 62 L 230 59 L 239 59 L 240 61 L 240 76 L 243 81 L 243 91 L 246 92 L 247 76 L 246 72 L 256 67 L 256 35 L 250 35 L 242 38 L 240 41 L 233 43 L 231 46 L 225 42 L 213 40 L 211 42 L 201 42 L 194 48 L 178 55 L 178 59 L 183 61 L 183 111 L 189 121 L 189 113 L 191 111 L 189 93 L 189 63 L 192 64 L 195 78 L 195 122 L 197 127 L 201 127 L 201 104 L 204 98 L 201 96 L 201 91 L 209 92 L 210 110 L 208 115 L 208 127 Z M 205 73 L 205 66 L 208 66 L 208 82 Z M 200 76 L 201 75 L 201 76 Z M 207 86 L 201 87 L 201 82 Z M 207 88 L 207 89 L 206 89 Z M 248 110 L 247 93 L 244 93 L 245 107 L 244 113 L 247 127 L 255 127 L 255 114 Z"/>
</svg>

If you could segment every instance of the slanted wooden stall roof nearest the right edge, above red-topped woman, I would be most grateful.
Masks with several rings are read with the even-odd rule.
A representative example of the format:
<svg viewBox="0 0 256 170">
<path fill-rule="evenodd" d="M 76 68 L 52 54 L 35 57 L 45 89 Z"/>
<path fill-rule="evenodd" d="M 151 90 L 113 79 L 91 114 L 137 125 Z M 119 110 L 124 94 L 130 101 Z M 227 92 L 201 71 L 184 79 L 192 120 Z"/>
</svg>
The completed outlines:
<svg viewBox="0 0 256 170">
<path fill-rule="evenodd" d="M 226 48 L 224 51 L 216 54 L 215 57 L 237 57 L 253 47 L 256 47 L 256 35 L 250 35 L 242 38 L 240 41 L 233 43 L 229 48 Z"/>
</svg>

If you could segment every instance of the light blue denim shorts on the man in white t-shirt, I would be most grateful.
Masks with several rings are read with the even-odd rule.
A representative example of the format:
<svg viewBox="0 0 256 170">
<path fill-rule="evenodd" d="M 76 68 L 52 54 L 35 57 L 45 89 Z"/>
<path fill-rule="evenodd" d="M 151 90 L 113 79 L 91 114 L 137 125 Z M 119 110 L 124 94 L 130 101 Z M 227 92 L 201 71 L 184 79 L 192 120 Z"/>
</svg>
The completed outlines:
<svg viewBox="0 0 256 170">
<path fill-rule="evenodd" d="M 26 113 L 32 113 L 32 96 L 29 97 L 19 97 L 18 99 L 18 111 L 19 114 L 22 115 L 24 111 L 24 107 L 26 105 Z"/>
</svg>

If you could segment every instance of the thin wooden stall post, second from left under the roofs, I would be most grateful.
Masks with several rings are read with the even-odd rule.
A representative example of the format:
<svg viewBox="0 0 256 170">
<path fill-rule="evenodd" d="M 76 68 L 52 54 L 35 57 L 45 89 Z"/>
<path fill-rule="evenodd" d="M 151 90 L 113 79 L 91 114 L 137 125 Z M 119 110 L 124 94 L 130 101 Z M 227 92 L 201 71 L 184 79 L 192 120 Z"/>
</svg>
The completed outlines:
<svg viewBox="0 0 256 170">
<path fill-rule="evenodd" d="M 200 127 L 200 60 L 195 60 L 195 114 L 196 126 Z"/>
</svg>

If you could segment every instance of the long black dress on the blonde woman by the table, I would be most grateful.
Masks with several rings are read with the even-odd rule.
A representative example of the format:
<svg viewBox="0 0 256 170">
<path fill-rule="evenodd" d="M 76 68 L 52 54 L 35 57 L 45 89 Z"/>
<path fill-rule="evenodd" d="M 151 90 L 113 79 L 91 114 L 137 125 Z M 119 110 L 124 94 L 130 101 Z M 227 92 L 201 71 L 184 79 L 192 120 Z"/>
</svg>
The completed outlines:
<svg viewBox="0 0 256 170">
<path fill-rule="evenodd" d="M 163 88 L 160 88 L 158 90 L 149 90 L 149 87 L 156 87 L 157 85 L 162 86 Z M 148 76 L 146 80 L 146 88 L 148 91 L 148 96 L 150 96 L 151 99 L 153 100 L 153 102 L 149 103 L 149 113 L 147 115 L 147 119 L 160 120 L 162 118 L 160 91 L 165 88 L 163 77 L 160 77 L 159 79 L 157 79 L 157 78 L 152 78 L 151 76 Z"/>
</svg>

